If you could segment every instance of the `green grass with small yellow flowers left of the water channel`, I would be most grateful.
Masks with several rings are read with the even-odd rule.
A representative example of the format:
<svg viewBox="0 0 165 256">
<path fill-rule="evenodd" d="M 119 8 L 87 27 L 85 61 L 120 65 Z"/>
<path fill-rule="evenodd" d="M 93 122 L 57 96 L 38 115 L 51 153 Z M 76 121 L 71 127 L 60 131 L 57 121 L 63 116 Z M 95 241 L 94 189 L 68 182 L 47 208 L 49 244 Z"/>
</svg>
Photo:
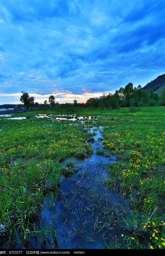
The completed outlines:
<svg viewBox="0 0 165 256">
<path fill-rule="evenodd" d="M 92 149 L 80 123 L 1 119 L 0 127 L 0 223 L 10 240 L 18 226 L 24 236 L 44 194 L 58 191 L 62 161 L 84 158 Z"/>
</svg>

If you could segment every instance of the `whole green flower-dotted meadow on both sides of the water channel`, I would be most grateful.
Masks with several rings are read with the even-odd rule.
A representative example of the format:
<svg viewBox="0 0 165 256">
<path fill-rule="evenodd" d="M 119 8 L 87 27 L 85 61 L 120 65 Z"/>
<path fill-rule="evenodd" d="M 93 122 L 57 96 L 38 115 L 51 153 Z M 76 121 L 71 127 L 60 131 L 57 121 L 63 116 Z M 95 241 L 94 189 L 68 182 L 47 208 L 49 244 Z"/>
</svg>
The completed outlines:
<svg viewBox="0 0 165 256">
<path fill-rule="evenodd" d="M 15 116 L 39 113 L 99 116 L 96 124 L 103 126 L 104 138 L 97 154 L 102 155 L 105 149 L 118 159 L 109 164 L 107 185 L 113 190 L 118 187 L 120 196 L 129 199 L 132 209 L 131 216 L 123 216 L 123 244 L 114 238 L 107 247 L 163 248 L 165 108 L 140 108 L 136 112 L 128 108 L 48 109 Z M 90 144 L 85 142 L 90 134 L 84 126 L 80 122 L 76 126 L 69 123 L 33 117 L 0 119 L 0 224 L 7 230 L 9 240 L 18 226 L 24 240 L 29 239 L 30 231 L 26 230 L 33 227 L 44 194 L 59 190 L 62 162 L 71 157 L 83 159 L 92 153 Z M 92 121 L 86 120 L 85 125 L 91 127 Z M 54 203 L 50 201 L 50 205 Z"/>
</svg>

